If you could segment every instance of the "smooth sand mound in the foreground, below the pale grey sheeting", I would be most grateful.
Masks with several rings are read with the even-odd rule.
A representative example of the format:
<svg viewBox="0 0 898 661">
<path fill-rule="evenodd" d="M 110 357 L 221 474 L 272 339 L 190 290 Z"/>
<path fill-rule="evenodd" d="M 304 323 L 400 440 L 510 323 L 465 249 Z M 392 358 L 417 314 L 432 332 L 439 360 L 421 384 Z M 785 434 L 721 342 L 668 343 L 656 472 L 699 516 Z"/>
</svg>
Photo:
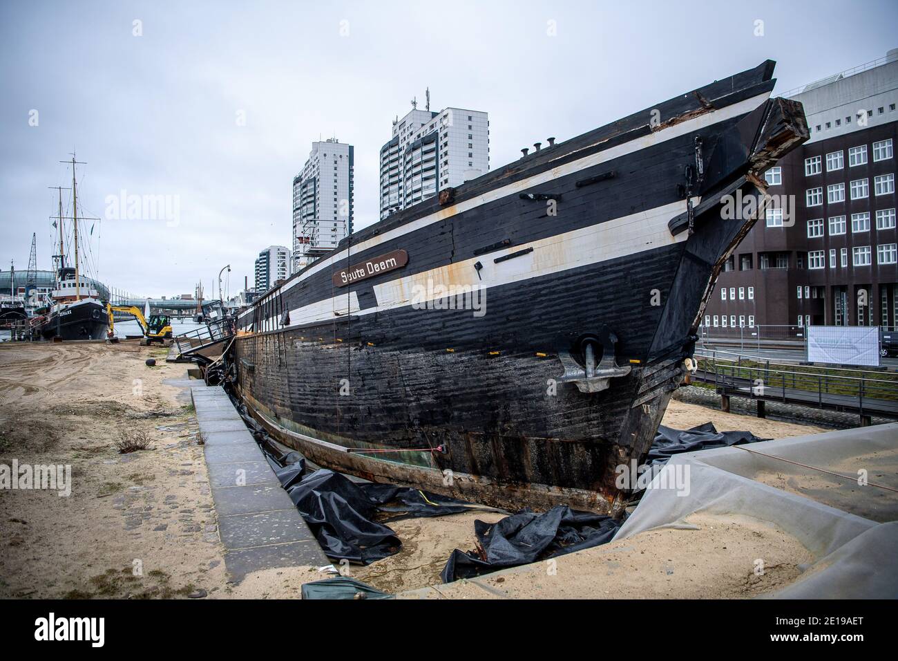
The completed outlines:
<svg viewBox="0 0 898 661">
<path fill-rule="evenodd" d="M 692 514 L 689 529 L 662 528 L 404 598 L 728 599 L 796 580 L 814 558 L 772 523 Z M 759 563 L 760 560 L 760 563 Z M 762 568 L 762 573 L 761 573 Z"/>
</svg>

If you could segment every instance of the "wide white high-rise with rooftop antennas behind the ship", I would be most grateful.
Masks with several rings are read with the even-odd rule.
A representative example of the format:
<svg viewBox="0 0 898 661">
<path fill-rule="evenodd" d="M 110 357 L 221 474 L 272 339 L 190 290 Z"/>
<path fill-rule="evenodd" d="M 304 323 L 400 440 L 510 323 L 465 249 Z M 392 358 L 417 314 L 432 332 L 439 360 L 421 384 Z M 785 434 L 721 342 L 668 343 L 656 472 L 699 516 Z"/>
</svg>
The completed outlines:
<svg viewBox="0 0 898 661">
<path fill-rule="evenodd" d="M 381 147 L 381 219 L 489 171 L 486 112 L 416 106 Z"/>
</svg>

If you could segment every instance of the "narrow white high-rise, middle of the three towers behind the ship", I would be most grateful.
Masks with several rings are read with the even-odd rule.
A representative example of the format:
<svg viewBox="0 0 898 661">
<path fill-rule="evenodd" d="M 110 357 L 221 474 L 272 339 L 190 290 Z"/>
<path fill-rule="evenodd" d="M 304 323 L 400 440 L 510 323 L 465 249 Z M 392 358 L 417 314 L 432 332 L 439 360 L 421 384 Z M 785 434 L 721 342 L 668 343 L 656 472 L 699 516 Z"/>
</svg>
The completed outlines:
<svg viewBox="0 0 898 661">
<path fill-rule="evenodd" d="M 293 269 L 298 272 L 352 233 L 354 150 L 329 138 L 313 142 L 293 179 Z"/>
</svg>

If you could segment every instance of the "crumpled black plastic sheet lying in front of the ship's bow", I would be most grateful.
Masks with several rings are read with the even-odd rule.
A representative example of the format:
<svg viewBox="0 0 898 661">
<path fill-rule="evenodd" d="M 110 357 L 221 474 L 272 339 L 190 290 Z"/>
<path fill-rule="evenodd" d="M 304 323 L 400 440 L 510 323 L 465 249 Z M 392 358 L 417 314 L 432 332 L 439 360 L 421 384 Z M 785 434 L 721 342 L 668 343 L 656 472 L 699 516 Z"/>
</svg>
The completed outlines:
<svg viewBox="0 0 898 661">
<path fill-rule="evenodd" d="M 450 583 L 589 549 L 610 541 L 619 525 L 610 516 L 579 512 L 567 505 L 556 505 L 543 514 L 523 510 L 497 523 L 475 521 L 479 548 L 467 553 L 453 550 L 440 577 Z"/>
</svg>

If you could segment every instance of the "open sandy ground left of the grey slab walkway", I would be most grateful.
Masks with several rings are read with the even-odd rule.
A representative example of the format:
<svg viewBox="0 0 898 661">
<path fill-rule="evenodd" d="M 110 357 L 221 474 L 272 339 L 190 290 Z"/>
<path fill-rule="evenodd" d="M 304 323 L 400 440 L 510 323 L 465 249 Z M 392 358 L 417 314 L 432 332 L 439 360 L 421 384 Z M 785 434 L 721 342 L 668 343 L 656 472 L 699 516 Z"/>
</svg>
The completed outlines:
<svg viewBox="0 0 898 661">
<path fill-rule="evenodd" d="M 177 597 L 226 585 L 203 451 L 165 350 L 0 347 L 0 464 L 62 464 L 72 495 L 0 490 L 0 596 Z M 145 359 L 154 357 L 154 368 Z M 119 454 L 120 434 L 151 449 Z"/>
</svg>

